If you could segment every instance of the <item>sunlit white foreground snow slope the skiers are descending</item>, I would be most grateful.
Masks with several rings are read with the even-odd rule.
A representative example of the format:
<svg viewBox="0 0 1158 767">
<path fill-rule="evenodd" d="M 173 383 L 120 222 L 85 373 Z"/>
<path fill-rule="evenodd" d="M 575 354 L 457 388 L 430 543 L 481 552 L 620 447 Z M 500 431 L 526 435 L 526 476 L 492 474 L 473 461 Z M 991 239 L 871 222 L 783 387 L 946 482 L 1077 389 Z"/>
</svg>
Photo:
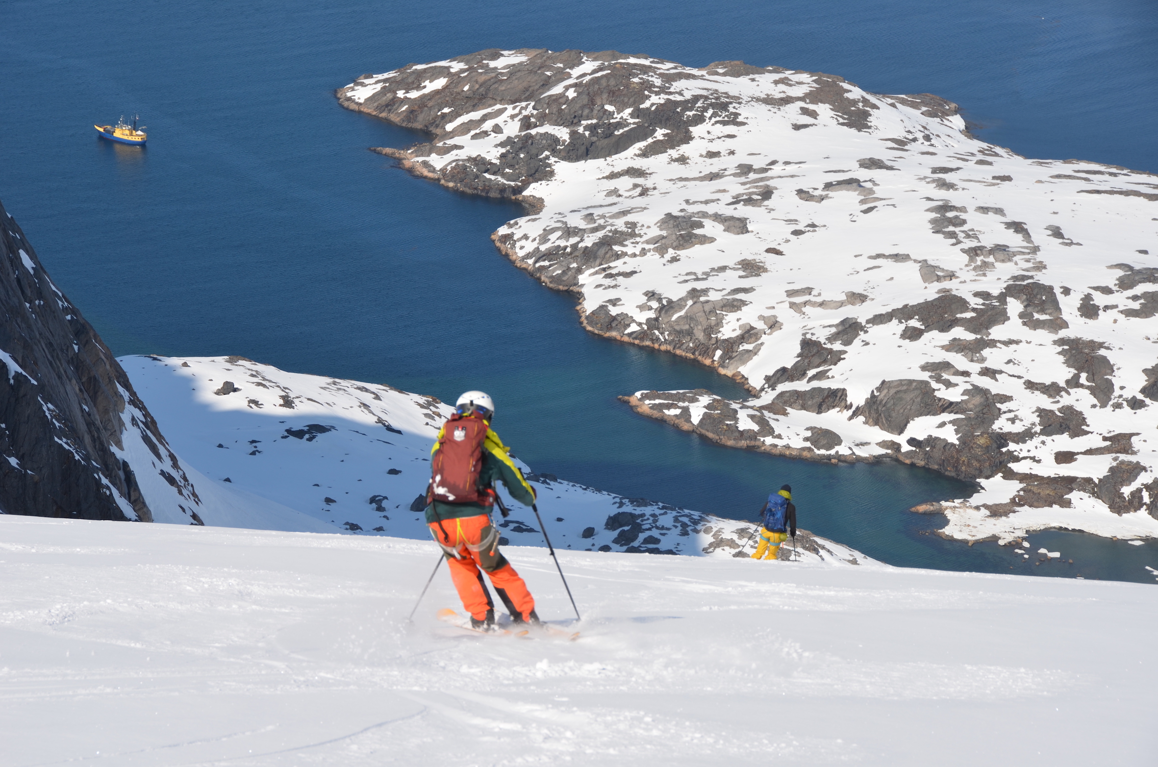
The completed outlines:
<svg viewBox="0 0 1158 767">
<path fill-rule="evenodd" d="M 456 634 L 431 541 L 0 517 L 0 762 L 1153 764 L 1158 589 L 562 552 Z M 512 547 L 548 619 L 542 548 Z"/>
</svg>

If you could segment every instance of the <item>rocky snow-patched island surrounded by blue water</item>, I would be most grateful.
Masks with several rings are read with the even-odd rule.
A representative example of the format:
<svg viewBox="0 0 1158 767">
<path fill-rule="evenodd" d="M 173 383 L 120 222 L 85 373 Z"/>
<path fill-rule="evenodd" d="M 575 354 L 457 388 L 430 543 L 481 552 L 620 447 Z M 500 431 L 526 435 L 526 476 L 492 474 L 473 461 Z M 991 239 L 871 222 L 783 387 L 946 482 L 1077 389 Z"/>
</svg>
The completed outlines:
<svg viewBox="0 0 1158 767">
<path fill-rule="evenodd" d="M 739 61 L 490 50 L 337 96 L 430 134 L 375 148 L 410 172 L 523 202 L 493 239 L 585 327 L 752 391 L 639 391 L 637 412 L 977 480 L 918 507 L 960 539 L 1158 536 L 1158 176 L 1021 157 L 929 94 Z"/>
</svg>

